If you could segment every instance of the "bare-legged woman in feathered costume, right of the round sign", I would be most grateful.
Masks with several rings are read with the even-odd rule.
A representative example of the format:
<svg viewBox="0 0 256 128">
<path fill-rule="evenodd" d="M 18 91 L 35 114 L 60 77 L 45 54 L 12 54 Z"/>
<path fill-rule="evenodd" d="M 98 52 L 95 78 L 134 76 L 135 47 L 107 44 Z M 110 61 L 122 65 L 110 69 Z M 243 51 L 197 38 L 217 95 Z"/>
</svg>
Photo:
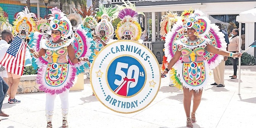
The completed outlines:
<svg viewBox="0 0 256 128">
<path fill-rule="evenodd" d="M 187 14 L 188 15 L 188 14 Z M 209 69 L 214 68 L 220 61 L 219 55 L 228 57 L 241 57 L 241 53 L 227 52 L 214 40 L 204 38 L 204 36 L 214 36 L 217 42 L 225 42 L 223 35 L 218 31 L 217 26 L 210 25 L 207 17 L 201 16 L 203 13 L 196 10 L 194 13 L 185 17 L 184 22 L 181 20 L 173 26 L 172 32 L 168 33 L 165 39 L 165 53 L 169 65 L 162 73 L 161 77 L 175 65 L 180 75 L 180 81 L 183 86 L 183 105 L 186 113 L 186 126 L 193 128 L 196 122 L 195 112 L 201 101 L 203 87 L 207 84 L 209 78 Z M 183 24 L 184 23 L 184 24 Z M 182 31 L 186 31 L 186 36 Z M 215 33 L 217 32 L 217 33 Z M 177 41 L 173 42 L 178 37 Z M 223 39 L 221 39 L 223 38 Z M 173 45 L 177 44 L 177 45 Z M 174 55 L 172 54 L 175 49 Z M 217 55 L 219 54 L 219 55 Z M 223 58 L 223 57 L 222 57 Z M 180 59 L 180 60 L 179 60 Z M 193 110 L 190 111 L 191 97 L 193 98 Z M 191 118 L 190 118 L 191 112 Z"/>
</svg>

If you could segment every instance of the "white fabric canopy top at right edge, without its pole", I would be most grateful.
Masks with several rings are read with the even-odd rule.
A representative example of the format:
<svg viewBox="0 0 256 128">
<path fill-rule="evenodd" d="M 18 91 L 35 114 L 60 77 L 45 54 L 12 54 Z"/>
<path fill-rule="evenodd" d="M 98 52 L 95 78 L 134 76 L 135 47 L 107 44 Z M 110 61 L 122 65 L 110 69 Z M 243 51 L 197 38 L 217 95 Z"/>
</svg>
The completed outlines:
<svg viewBox="0 0 256 128">
<path fill-rule="evenodd" d="M 237 16 L 237 22 L 242 22 L 242 23 L 256 22 L 256 8 L 239 13 L 239 16 Z"/>
</svg>

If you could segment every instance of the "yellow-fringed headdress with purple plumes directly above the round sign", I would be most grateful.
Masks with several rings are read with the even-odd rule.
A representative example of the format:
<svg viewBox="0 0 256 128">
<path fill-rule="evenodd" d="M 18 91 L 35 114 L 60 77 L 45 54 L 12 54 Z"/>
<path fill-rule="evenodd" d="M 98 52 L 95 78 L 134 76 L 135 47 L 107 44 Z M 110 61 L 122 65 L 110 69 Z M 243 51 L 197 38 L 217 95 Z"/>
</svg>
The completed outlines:
<svg viewBox="0 0 256 128">
<path fill-rule="evenodd" d="M 138 41 L 141 37 L 141 26 L 133 18 L 138 14 L 144 15 L 144 13 L 137 13 L 133 3 L 125 2 L 124 0 L 122 2 L 124 2 L 123 5 L 116 5 L 120 10 L 118 17 L 122 19 L 117 25 L 116 37 L 120 40 L 123 36 L 130 35 L 131 40 Z"/>
</svg>

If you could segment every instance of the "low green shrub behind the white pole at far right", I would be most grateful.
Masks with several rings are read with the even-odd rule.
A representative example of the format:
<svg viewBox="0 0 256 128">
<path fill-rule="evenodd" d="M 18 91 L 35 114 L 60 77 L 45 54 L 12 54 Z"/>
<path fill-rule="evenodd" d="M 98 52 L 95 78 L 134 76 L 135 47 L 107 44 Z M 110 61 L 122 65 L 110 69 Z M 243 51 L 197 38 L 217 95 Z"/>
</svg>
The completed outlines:
<svg viewBox="0 0 256 128">
<path fill-rule="evenodd" d="M 252 55 L 248 54 L 247 52 L 243 53 L 241 57 L 241 65 L 254 65 L 256 59 Z M 230 57 L 228 57 L 228 60 L 225 62 L 226 65 L 232 65 Z M 238 65 L 238 62 L 237 62 Z"/>
</svg>

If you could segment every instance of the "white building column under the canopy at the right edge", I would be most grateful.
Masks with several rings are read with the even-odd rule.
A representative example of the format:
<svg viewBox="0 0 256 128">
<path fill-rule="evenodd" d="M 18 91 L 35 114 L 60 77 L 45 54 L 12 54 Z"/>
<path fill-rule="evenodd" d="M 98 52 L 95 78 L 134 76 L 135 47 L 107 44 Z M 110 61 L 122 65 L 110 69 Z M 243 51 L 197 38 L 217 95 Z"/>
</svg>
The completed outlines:
<svg viewBox="0 0 256 128">
<path fill-rule="evenodd" d="M 245 49 L 254 42 L 254 27 L 254 23 L 245 23 Z M 250 48 L 246 52 L 254 56 L 254 48 Z"/>
</svg>

